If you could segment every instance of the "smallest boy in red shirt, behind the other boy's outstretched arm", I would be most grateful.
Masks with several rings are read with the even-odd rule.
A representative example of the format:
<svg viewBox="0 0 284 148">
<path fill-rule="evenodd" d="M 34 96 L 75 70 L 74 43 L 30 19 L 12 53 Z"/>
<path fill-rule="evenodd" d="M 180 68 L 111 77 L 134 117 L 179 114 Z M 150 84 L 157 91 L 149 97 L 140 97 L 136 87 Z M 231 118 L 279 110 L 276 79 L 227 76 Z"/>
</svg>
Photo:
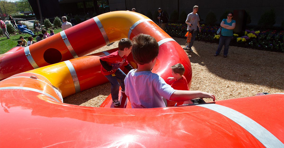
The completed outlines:
<svg viewBox="0 0 284 148">
<path fill-rule="evenodd" d="M 171 68 L 172 68 L 173 77 L 169 77 L 168 79 L 170 79 L 170 81 L 175 80 L 172 83 L 171 87 L 173 89 L 176 89 L 176 90 L 189 91 L 186 78 L 183 76 L 183 74 L 185 72 L 183 65 L 181 63 L 178 63 L 176 65 L 171 66 Z M 175 106 L 179 106 L 179 105 L 182 105 L 183 102 L 171 101 L 171 102 L 168 102 L 167 104 L 168 104 L 168 106 L 172 106 L 174 103 L 176 103 Z"/>
</svg>

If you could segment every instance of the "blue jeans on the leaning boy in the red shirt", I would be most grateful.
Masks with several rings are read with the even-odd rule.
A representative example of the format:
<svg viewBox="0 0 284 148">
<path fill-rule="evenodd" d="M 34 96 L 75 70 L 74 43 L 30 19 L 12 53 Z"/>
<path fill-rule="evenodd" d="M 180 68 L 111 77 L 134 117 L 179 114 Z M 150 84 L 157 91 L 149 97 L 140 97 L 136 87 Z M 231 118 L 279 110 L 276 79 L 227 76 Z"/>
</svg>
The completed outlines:
<svg viewBox="0 0 284 148">
<path fill-rule="evenodd" d="M 118 99 L 119 83 L 116 79 L 120 81 L 121 89 L 125 90 L 124 79 L 126 77 L 126 74 L 120 68 L 118 68 L 116 72 L 114 72 L 114 74 L 115 76 L 112 76 L 111 74 L 105 76 L 111 84 L 110 94 L 112 100 Z"/>
</svg>

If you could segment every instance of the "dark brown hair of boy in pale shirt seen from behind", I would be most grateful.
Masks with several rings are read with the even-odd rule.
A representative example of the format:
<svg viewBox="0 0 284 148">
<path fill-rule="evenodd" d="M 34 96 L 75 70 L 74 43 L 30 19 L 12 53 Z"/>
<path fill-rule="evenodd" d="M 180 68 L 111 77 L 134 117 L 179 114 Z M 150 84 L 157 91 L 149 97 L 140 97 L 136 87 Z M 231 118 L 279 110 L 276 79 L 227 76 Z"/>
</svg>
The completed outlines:
<svg viewBox="0 0 284 148">
<path fill-rule="evenodd" d="M 159 44 L 150 35 L 139 34 L 132 39 L 132 55 L 135 62 L 140 65 L 150 63 L 159 53 Z"/>
</svg>

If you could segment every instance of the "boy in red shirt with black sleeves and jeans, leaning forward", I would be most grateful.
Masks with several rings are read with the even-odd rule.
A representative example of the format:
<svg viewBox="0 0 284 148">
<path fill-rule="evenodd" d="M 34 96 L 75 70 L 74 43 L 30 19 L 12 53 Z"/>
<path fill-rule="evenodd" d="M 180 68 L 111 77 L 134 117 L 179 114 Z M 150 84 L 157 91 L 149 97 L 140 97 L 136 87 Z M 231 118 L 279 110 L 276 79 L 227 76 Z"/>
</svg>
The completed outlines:
<svg viewBox="0 0 284 148">
<path fill-rule="evenodd" d="M 100 58 L 102 64 L 101 73 L 105 75 L 111 84 L 110 94 L 114 106 L 120 105 L 118 100 L 119 83 L 116 79 L 120 81 L 121 92 L 124 93 L 125 90 L 124 79 L 126 74 L 119 67 L 123 65 L 129 71 L 133 69 L 126 60 L 132 50 L 131 40 L 122 38 L 118 42 L 118 49 L 118 51 Z"/>
</svg>

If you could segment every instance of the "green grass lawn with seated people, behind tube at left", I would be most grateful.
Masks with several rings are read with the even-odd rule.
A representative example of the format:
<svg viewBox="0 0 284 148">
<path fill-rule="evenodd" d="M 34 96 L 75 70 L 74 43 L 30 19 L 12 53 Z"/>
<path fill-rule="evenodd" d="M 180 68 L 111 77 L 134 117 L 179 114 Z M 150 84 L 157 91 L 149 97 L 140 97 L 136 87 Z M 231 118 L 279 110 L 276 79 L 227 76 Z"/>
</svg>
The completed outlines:
<svg viewBox="0 0 284 148">
<path fill-rule="evenodd" d="M 61 28 L 55 29 L 53 31 L 56 34 L 56 33 L 59 33 L 60 31 L 62 31 L 62 29 Z M 48 33 L 49 33 L 49 30 L 48 30 Z M 20 39 L 20 36 L 25 36 L 25 34 L 16 33 L 16 35 L 10 35 L 10 39 L 6 39 L 6 37 L 2 35 L 0 37 L 0 54 L 3 54 L 5 52 L 7 52 L 8 50 L 10 50 L 11 48 L 15 47 L 18 44 L 18 40 Z M 31 36 L 31 35 L 27 34 L 27 36 L 24 37 L 24 39 L 26 41 L 28 41 L 29 36 Z"/>
</svg>

